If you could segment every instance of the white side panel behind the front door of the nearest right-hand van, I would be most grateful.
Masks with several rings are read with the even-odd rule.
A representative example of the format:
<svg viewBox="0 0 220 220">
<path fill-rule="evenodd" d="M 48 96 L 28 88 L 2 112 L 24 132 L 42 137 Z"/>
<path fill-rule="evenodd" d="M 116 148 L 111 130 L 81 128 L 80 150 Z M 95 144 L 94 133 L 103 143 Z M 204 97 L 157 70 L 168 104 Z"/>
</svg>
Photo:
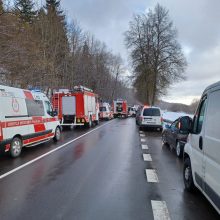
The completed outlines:
<svg viewBox="0 0 220 220">
<path fill-rule="evenodd" d="M 204 192 L 220 209 L 220 90 L 208 97 L 203 138 L 205 157 Z"/>
</svg>

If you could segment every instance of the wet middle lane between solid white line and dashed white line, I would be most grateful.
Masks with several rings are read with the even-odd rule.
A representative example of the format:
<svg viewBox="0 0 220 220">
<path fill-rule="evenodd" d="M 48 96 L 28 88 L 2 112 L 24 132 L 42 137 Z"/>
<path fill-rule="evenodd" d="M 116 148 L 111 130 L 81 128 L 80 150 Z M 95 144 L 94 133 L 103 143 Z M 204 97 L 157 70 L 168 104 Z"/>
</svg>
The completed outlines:
<svg viewBox="0 0 220 220">
<path fill-rule="evenodd" d="M 2 179 L 1 219 L 153 219 L 144 168 L 135 121 L 114 120 Z"/>
</svg>

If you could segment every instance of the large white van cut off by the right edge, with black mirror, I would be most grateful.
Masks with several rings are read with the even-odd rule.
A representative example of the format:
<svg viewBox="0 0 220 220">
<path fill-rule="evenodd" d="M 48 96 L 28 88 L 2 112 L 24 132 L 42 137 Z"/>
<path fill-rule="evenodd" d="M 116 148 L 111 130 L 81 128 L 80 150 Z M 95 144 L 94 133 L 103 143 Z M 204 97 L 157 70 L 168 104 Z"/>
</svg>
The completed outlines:
<svg viewBox="0 0 220 220">
<path fill-rule="evenodd" d="M 203 93 L 184 148 L 185 188 L 196 186 L 220 214 L 220 82 Z"/>
</svg>

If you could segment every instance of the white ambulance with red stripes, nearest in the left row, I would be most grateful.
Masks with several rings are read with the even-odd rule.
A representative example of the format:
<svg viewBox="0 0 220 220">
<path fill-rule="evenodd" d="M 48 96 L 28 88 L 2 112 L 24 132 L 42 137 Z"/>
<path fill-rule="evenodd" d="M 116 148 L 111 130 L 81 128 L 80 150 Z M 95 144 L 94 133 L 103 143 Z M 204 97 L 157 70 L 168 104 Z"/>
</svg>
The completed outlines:
<svg viewBox="0 0 220 220">
<path fill-rule="evenodd" d="M 0 149 L 18 157 L 22 147 L 60 140 L 59 120 L 45 94 L 0 85 Z"/>
</svg>

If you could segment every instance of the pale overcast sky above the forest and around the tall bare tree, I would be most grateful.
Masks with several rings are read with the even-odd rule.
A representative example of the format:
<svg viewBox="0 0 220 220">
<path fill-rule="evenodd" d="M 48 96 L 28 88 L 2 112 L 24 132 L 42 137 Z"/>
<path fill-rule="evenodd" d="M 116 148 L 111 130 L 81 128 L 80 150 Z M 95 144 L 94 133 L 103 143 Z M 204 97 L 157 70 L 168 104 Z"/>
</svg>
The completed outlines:
<svg viewBox="0 0 220 220">
<path fill-rule="evenodd" d="M 123 33 L 129 21 L 157 2 L 169 10 L 188 61 L 187 80 L 172 86 L 163 99 L 190 103 L 220 80 L 220 0 L 61 0 L 61 5 L 69 19 L 77 19 L 126 61 Z"/>
</svg>

